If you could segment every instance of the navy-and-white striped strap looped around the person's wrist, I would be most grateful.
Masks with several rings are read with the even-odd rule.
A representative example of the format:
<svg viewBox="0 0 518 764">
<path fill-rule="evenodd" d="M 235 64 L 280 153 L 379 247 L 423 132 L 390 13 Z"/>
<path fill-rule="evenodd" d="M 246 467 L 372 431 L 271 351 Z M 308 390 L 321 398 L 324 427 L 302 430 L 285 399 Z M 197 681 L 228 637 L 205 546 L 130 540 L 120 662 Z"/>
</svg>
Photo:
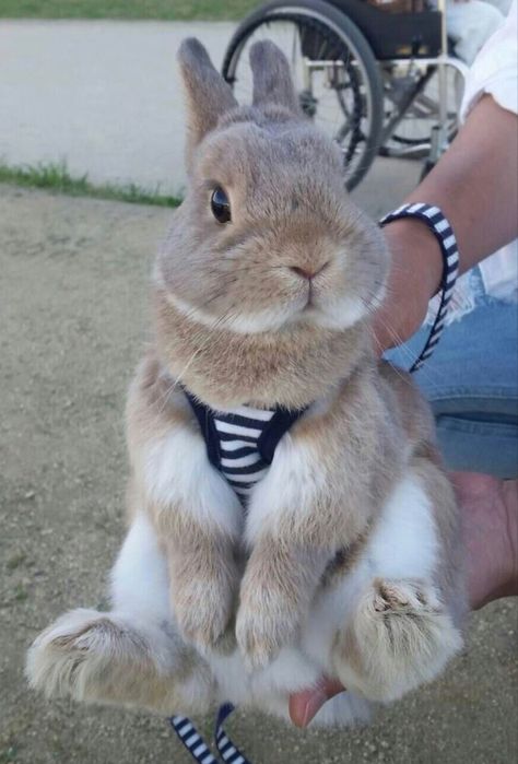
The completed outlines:
<svg viewBox="0 0 518 764">
<path fill-rule="evenodd" d="M 423 202 L 403 204 L 393 212 L 389 212 L 385 218 L 381 218 L 379 225 L 382 227 L 387 225 L 387 223 L 392 223 L 392 221 L 403 218 L 416 218 L 423 221 L 434 234 L 443 254 L 439 309 L 429 330 L 426 343 L 419 354 L 417 360 L 410 368 L 412 373 L 416 372 L 426 359 L 429 359 L 443 333 L 446 314 L 448 313 L 448 306 L 451 295 L 454 294 L 455 282 L 457 281 L 457 274 L 459 272 L 459 250 L 457 249 L 457 239 L 455 238 L 451 225 L 438 207 L 424 204 Z"/>
</svg>

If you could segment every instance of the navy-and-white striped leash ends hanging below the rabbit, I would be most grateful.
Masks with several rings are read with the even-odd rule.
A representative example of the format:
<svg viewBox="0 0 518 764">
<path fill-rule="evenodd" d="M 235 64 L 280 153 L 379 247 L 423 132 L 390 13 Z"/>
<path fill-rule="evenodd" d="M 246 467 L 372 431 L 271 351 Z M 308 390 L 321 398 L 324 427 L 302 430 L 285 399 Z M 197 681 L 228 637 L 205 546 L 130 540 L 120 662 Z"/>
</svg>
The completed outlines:
<svg viewBox="0 0 518 764">
<path fill-rule="evenodd" d="M 220 760 L 217 760 L 209 745 L 205 743 L 195 725 L 186 716 L 172 716 L 169 724 L 178 736 L 180 742 L 189 751 L 190 755 L 198 764 L 251 764 L 239 751 L 232 740 L 226 736 L 223 725 L 234 710 L 231 703 L 225 703 L 217 712 L 214 729 L 214 741 Z"/>
</svg>

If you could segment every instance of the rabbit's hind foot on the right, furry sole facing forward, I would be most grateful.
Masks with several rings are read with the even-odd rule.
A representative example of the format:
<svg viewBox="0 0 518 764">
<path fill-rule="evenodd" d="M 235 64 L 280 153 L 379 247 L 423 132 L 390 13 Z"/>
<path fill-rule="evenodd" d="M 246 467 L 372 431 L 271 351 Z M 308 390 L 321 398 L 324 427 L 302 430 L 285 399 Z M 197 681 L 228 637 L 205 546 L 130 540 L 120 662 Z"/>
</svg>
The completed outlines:
<svg viewBox="0 0 518 764">
<path fill-rule="evenodd" d="M 348 689 L 393 701 L 434 679 L 461 645 L 432 585 L 378 578 L 338 635 L 335 667 Z"/>
</svg>

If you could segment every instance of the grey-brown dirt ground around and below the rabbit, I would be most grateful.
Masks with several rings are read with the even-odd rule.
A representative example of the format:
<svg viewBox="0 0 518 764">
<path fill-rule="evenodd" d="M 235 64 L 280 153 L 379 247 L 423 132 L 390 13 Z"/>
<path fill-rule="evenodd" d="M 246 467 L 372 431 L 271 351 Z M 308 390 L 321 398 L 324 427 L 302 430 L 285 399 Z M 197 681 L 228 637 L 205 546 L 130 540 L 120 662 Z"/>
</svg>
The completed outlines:
<svg viewBox="0 0 518 764">
<path fill-rule="evenodd" d="M 191 761 L 163 719 L 49 703 L 23 677 L 42 627 L 104 598 L 123 532 L 125 391 L 169 216 L 0 187 L 0 763 Z M 229 730 L 255 764 L 515 762 L 517 612 L 502 600 L 474 615 L 444 678 L 369 729 L 237 714 Z"/>
</svg>

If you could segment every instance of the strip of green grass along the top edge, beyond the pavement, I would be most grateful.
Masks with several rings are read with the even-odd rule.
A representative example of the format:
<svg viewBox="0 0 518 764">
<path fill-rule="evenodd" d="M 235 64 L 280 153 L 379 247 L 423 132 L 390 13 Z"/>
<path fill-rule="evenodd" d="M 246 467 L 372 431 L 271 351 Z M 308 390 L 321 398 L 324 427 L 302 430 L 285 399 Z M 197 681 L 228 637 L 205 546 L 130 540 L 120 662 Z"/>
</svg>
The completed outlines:
<svg viewBox="0 0 518 764">
<path fill-rule="evenodd" d="M 260 0 L 0 0 L 3 19 L 237 20 Z"/>
</svg>

